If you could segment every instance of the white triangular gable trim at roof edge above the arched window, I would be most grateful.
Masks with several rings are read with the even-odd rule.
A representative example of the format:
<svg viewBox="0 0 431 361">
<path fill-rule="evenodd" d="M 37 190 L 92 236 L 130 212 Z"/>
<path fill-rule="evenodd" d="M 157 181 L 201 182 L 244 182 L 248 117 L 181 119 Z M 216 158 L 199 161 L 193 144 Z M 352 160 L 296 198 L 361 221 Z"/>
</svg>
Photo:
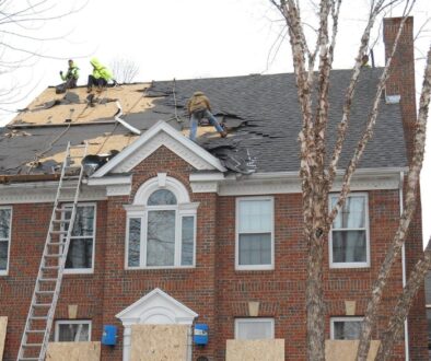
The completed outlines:
<svg viewBox="0 0 431 361">
<path fill-rule="evenodd" d="M 103 177 L 109 172 L 130 172 L 133 166 L 142 162 L 161 145 L 165 145 L 197 170 L 226 172 L 226 168 L 221 164 L 219 159 L 184 137 L 165 121 L 159 120 L 139 139 L 97 170 L 92 177 Z"/>
</svg>

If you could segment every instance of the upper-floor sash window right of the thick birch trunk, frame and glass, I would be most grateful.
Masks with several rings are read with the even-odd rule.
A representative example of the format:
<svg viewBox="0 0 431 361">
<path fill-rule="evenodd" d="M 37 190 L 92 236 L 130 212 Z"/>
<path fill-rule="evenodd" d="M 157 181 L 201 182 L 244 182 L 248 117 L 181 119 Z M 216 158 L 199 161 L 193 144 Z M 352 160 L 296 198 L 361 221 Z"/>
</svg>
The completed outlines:
<svg viewBox="0 0 431 361">
<path fill-rule="evenodd" d="M 337 195 L 330 196 L 331 208 Z M 366 194 L 351 194 L 338 211 L 329 235 L 331 268 L 369 267 L 370 235 Z"/>
</svg>

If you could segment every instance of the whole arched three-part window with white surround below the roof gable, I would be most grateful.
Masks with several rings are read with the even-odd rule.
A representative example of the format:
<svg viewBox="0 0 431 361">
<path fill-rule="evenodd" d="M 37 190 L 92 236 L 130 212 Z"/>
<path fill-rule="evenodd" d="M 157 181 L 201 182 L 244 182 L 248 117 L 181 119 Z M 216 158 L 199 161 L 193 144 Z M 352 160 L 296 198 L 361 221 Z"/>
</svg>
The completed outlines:
<svg viewBox="0 0 431 361">
<path fill-rule="evenodd" d="M 178 180 L 159 174 L 127 210 L 127 268 L 194 267 L 196 210 Z"/>
</svg>

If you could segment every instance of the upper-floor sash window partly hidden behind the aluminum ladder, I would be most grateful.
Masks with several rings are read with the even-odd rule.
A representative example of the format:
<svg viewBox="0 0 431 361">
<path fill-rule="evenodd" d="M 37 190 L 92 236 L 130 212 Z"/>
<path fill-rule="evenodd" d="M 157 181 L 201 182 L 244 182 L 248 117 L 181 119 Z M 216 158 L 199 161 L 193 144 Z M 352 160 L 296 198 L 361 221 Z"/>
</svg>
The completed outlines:
<svg viewBox="0 0 431 361">
<path fill-rule="evenodd" d="M 63 219 L 70 219 L 71 205 L 65 205 L 67 210 Z M 69 223 L 65 223 L 68 230 Z M 66 259 L 66 272 L 92 272 L 94 267 L 94 240 L 95 240 L 95 205 L 80 203 L 77 206 L 68 257 Z"/>
</svg>

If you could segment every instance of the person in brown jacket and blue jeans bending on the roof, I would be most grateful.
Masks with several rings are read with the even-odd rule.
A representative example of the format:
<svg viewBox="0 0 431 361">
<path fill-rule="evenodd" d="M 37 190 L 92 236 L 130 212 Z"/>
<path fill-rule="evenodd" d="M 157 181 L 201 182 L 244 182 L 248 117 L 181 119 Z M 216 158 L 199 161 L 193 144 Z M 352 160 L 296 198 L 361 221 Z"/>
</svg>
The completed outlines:
<svg viewBox="0 0 431 361">
<path fill-rule="evenodd" d="M 211 114 L 211 105 L 208 97 L 202 92 L 195 92 L 188 100 L 187 110 L 190 115 L 190 135 L 189 138 L 195 141 L 198 123 L 202 118 L 207 118 L 222 138 L 226 137 L 226 131 L 220 126 L 215 117 Z"/>
</svg>

